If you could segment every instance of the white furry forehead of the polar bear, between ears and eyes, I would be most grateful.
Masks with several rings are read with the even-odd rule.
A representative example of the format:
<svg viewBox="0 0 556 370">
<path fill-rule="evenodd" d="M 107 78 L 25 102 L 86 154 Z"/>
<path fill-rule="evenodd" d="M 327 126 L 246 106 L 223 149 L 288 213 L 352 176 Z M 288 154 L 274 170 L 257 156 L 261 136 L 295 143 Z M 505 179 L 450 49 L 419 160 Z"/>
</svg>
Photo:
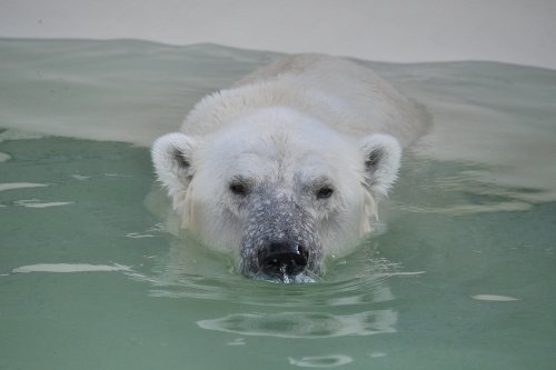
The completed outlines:
<svg viewBox="0 0 556 370">
<path fill-rule="evenodd" d="M 330 177 L 359 162 L 353 140 L 315 124 L 240 124 L 206 138 L 200 166 L 264 177 Z M 356 158 L 357 157 L 357 158 Z"/>
</svg>

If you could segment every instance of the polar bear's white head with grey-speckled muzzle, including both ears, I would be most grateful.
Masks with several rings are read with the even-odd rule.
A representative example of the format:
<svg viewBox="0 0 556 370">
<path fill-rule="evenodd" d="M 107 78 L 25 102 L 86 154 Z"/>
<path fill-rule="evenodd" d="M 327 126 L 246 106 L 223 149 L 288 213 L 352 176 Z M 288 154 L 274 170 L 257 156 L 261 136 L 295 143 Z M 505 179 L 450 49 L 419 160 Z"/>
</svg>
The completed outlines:
<svg viewBox="0 0 556 370">
<path fill-rule="evenodd" d="M 375 200 L 401 156 L 387 134 L 355 138 L 287 108 L 267 108 L 203 134 L 152 147 L 181 226 L 234 250 L 241 272 L 296 281 L 371 230 Z"/>
</svg>

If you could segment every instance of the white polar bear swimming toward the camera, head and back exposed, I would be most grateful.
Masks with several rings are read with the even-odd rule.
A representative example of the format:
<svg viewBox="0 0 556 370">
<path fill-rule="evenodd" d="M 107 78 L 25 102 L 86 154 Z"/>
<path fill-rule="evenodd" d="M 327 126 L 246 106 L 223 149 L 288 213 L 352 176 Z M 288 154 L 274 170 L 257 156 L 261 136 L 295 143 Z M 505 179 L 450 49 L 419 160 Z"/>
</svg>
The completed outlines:
<svg viewBox="0 0 556 370">
<path fill-rule="evenodd" d="M 247 277 L 300 281 L 373 230 L 426 121 L 363 64 L 292 56 L 203 98 L 152 161 L 181 228 Z"/>
</svg>

